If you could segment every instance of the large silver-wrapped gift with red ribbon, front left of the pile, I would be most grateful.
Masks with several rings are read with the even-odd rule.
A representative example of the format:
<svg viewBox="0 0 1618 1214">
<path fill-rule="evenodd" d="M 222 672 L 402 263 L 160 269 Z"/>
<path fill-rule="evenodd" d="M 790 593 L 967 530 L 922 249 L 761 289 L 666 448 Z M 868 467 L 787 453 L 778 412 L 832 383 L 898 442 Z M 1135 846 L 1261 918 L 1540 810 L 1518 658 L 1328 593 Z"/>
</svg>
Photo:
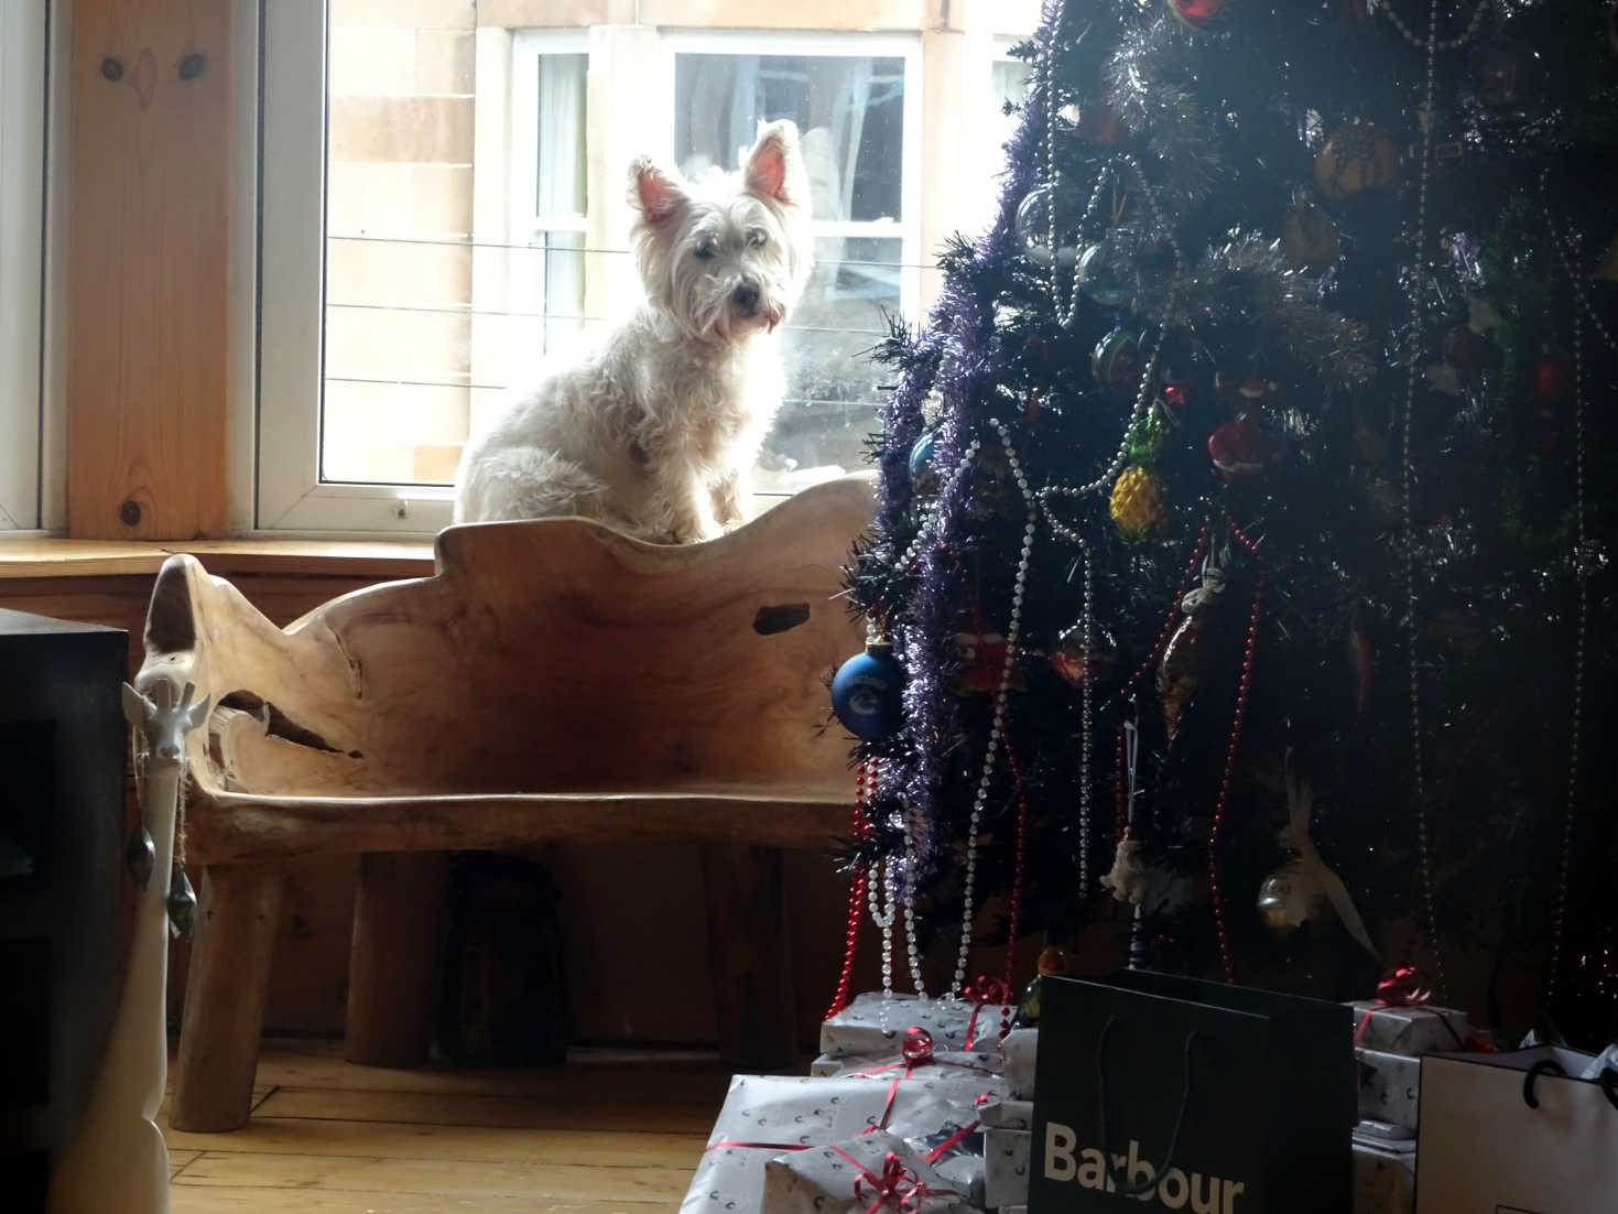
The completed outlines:
<svg viewBox="0 0 1618 1214">
<path fill-rule="evenodd" d="M 862 1135 L 882 1118 L 890 1091 L 885 1128 L 895 1138 L 929 1135 L 945 1122 L 974 1117 L 971 1099 L 951 1104 L 919 1075 L 898 1089 L 877 1080 L 735 1076 L 681 1214 L 754 1214 L 770 1159 Z"/>
</svg>

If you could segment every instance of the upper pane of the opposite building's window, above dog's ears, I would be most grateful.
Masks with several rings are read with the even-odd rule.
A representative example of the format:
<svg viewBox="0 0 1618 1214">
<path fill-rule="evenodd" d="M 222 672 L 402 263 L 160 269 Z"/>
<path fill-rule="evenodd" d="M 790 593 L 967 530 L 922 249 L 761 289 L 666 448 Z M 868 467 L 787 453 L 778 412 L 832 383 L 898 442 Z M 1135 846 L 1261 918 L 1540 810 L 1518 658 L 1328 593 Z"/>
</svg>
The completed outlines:
<svg viewBox="0 0 1618 1214">
<path fill-rule="evenodd" d="M 903 58 L 675 58 L 675 157 L 688 176 L 736 168 L 759 123 L 777 118 L 803 133 L 815 219 L 901 217 Z"/>
</svg>

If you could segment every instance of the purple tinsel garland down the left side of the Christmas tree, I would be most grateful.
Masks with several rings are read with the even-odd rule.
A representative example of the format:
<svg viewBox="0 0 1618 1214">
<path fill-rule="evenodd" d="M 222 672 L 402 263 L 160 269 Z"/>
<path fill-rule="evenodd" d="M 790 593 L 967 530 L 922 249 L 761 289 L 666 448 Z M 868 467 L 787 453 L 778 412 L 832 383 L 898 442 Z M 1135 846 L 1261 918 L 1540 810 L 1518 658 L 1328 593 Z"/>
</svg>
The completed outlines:
<svg viewBox="0 0 1618 1214">
<path fill-rule="evenodd" d="M 1055 39 L 1055 21 L 1060 3 L 1047 0 L 1036 44 L 1039 62 L 1047 62 L 1048 47 Z M 1036 89 L 1023 110 L 1018 131 L 1006 144 L 1005 186 L 1000 196 L 1000 212 L 989 233 L 977 241 L 972 261 L 977 264 L 1003 264 L 1018 256 L 1016 210 L 1031 188 L 1036 165 L 1044 162 L 1044 115 L 1047 79 L 1036 73 Z M 930 324 L 917 338 L 922 351 L 937 351 L 937 361 L 925 361 L 935 372 L 906 372 L 882 411 L 883 447 L 879 456 L 877 552 L 887 560 L 896 560 L 903 545 L 898 536 L 906 534 L 911 513 L 909 452 L 921 437 L 922 401 L 937 390 L 943 410 L 937 424 L 932 463 L 942 474 L 955 469 L 966 453 L 972 437 L 985 444 L 995 440 L 985 432 L 984 421 L 990 413 L 984 408 L 993 400 L 995 387 L 1011 379 L 1011 359 L 993 342 L 995 317 L 987 311 L 992 301 L 972 291 L 969 278 L 951 275 L 932 309 Z M 958 545 L 958 528 L 966 502 L 972 495 L 972 474 L 959 478 L 953 487 L 945 484 L 934 508 L 938 524 L 934 542 L 925 544 L 919 555 L 919 584 L 909 602 L 909 612 L 892 636 L 895 654 L 904 664 L 904 733 L 914 762 L 885 764 L 879 780 L 877 796 L 898 798 L 906 806 L 906 819 L 916 850 L 917 871 L 906 872 L 906 885 L 925 881 L 943 863 L 950 845 L 948 829 L 940 829 L 932 806 L 947 774 L 951 751 L 959 746 L 961 727 L 958 701 L 951 694 L 945 672 L 955 660 L 953 636 L 959 626 L 961 567 L 951 555 Z"/>
</svg>

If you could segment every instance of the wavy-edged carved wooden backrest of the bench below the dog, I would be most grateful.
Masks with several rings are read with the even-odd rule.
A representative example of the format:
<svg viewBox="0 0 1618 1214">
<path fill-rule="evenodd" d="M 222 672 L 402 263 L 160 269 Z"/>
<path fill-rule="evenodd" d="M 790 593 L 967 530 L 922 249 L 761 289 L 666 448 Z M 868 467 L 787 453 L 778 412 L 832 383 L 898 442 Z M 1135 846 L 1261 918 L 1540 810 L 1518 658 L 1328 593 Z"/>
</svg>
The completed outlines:
<svg viewBox="0 0 1618 1214">
<path fill-rule="evenodd" d="M 432 578 L 343 596 L 285 633 L 175 558 L 142 680 L 214 694 L 194 758 L 235 792 L 843 800 L 825 678 L 862 643 L 837 596 L 869 516 L 869 481 L 846 478 L 686 547 L 582 520 L 451 528 Z"/>
</svg>

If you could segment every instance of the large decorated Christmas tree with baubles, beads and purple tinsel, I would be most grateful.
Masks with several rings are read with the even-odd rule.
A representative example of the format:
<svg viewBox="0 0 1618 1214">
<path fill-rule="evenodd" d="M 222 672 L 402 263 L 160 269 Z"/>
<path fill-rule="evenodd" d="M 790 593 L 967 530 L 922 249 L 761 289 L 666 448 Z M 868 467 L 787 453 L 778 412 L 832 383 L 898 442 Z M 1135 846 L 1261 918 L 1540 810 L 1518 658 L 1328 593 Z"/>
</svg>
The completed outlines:
<svg viewBox="0 0 1618 1214">
<path fill-rule="evenodd" d="M 880 351 L 833 703 L 901 984 L 1044 931 L 1618 1028 L 1615 23 L 1047 5 L 998 220 Z"/>
</svg>

